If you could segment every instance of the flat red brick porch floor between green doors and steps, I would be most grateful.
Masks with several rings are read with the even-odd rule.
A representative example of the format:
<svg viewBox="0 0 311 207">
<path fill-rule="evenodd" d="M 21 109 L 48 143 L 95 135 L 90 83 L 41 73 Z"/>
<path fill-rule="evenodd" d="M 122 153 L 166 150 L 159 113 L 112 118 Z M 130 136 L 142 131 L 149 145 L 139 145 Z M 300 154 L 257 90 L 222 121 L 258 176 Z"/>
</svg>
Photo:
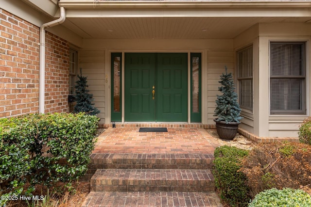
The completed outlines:
<svg viewBox="0 0 311 207">
<path fill-rule="evenodd" d="M 204 128 L 168 128 L 168 132 L 138 132 L 139 127 L 107 128 L 93 153 L 213 154 L 219 146 Z"/>
</svg>

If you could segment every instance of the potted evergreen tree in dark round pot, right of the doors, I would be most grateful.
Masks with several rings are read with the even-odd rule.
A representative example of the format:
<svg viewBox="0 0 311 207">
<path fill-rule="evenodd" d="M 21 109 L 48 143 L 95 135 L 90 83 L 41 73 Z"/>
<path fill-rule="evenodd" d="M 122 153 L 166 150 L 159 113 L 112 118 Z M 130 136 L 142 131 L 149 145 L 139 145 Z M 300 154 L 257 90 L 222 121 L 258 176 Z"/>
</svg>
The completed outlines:
<svg viewBox="0 0 311 207">
<path fill-rule="evenodd" d="M 238 94 L 234 91 L 232 74 L 227 73 L 227 67 L 225 67 L 225 74 L 223 73 L 220 79 L 219 83 L 222 86 L 218 87 L 218 90 L 223 95 L 217 95 L 214 116 L 218 118 L 214 119 L 214 122 L 216 122 L 219 137 L 224 140 L 232 140 L 238 132 L 240 120 L 243 117 L 240 116 L 241 108 L 238 103 Z"/>
</svg>

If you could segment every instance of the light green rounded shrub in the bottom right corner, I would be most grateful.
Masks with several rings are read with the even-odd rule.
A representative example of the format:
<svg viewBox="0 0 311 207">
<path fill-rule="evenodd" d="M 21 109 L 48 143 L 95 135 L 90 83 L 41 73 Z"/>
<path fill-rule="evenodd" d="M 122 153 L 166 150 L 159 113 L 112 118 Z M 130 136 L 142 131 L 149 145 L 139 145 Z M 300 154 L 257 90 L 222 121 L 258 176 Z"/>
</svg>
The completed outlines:
<svg viewBox="0 0 311 207">
<path fill-rule="evenodd" d="M 311 207 L 311 196 L 299 189 L 273 188 L 259 192 L 248 207 Z"/>
</svg>

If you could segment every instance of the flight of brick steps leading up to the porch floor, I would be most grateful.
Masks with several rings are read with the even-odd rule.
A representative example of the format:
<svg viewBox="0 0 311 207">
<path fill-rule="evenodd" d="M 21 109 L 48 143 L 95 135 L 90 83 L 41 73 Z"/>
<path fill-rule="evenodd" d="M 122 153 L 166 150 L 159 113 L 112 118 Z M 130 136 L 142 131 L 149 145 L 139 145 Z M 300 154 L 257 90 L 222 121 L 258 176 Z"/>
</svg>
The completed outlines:
<svg viewBox="0 0 311 207">
<path fill-rule="evenodd" d="M 207 154 L 91 155 L 82 207 L 222 207 Z"/>
</svg>

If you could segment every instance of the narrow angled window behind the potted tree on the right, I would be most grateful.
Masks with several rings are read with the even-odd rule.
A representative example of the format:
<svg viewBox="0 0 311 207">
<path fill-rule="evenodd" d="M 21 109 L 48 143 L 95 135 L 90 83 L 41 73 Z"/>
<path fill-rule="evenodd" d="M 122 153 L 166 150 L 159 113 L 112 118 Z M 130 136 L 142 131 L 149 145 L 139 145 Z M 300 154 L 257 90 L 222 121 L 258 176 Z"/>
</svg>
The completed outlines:
<svg viewBox="0 0 311 207">
<path fill-rule="evenodd" d="M 253 47 L 237 52 L 239 104 L 241 108 L 253 110 Z"/>
</svg>

